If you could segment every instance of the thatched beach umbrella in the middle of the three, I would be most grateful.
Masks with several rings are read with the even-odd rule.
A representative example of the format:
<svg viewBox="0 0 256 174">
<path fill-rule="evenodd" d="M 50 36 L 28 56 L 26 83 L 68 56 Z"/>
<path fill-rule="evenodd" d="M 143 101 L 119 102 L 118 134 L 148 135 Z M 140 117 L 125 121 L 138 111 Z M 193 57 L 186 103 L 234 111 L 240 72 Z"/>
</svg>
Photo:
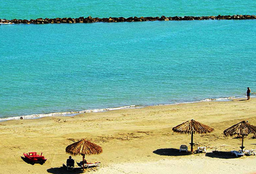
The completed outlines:
<svg viewBox="0 0 256 174">
<path fill-rule="evenodd" d="M 174 132 L 178 132 L 180 134 L 191 134 L 191 152 L 193 152 L 193 134 L 206 134 L 214 131 L 214 128 L 210 126 L 199 123 L 196 120 L 188 120 L 186 122 L 181 123 L 180 125 L 173 128 Z"/>
</svg>

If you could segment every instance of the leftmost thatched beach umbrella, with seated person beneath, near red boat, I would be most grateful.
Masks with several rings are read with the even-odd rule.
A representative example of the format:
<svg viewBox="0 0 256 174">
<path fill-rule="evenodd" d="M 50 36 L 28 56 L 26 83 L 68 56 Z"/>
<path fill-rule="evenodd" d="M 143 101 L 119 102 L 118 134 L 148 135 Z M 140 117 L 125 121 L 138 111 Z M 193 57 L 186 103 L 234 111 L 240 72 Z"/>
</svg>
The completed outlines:
<svg viewBox="0 0 256 174">
<path fill-rule="evenodd" d="M 102 148 L 86 139 L 82 139 L 77 141 L 66 147 L 66 153 L 70 153 L 74 156 L 82 155 L 83 161 L 85 155 L 91 154 L 100 154 L 102 153 Z M 83 170 L 84 170 L 84 162 L 83 162 Z"/>
</svg>

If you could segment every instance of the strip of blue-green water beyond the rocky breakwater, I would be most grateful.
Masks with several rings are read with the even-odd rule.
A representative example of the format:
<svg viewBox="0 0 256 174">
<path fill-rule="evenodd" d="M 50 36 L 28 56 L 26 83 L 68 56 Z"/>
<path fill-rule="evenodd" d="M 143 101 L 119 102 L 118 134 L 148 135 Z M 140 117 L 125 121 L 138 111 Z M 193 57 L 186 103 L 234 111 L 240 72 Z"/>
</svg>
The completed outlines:
<svg viewBox="0 0 256 174">
<path fill-rule="evenodd" d="M 249 0 L 3 0 L 0 18 L 255 15 L 255 9 L 256 1 Z"/>
</svg>

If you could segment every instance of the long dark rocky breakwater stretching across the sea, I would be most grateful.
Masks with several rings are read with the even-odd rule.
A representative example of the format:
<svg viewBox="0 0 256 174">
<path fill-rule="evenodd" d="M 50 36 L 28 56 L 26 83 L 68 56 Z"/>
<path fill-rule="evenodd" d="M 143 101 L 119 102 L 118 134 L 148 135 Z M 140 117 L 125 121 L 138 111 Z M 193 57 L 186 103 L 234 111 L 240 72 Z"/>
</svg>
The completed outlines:
<svg viewBox="0 0 256 174">
<path fill-rule="evenodd" d="M 256 15 L 218 15 L 218 16 L 174 16 L 174 17 L 78 17 L 78 18 L 36 18 L 35 20 L 6 20 L 0 18 L 0 24 L 45 24 L 45 23 L 93 23 L 93 22 L 142 22 L 142 21 L 192 21 L 192 20 L 252 20 L 256 19 Z"/>
</svg>

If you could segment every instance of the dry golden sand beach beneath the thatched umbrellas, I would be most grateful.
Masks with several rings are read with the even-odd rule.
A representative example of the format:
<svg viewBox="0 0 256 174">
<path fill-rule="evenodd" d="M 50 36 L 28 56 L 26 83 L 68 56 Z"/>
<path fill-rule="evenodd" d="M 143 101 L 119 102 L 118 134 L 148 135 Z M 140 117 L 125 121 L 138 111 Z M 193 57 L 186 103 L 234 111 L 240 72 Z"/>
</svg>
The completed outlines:
<svg viewBox="0 0 256 174">
<path fill-rule="evenodd" d="M 0 173 L 77 173 L 58 167 L 69 156 L 65 147 L 82 138 L 103 148 L 102 154 L 87 157 L 102 163 L 99 169 L 86 170 L 90 173 L 254 173 L 254 156 L 209 152 L 239 150 L 241 140 L 224 137 L 223 130 L 242 120 L 256 125 L 255 105 L 255 99 L 200 102 L 0 122 Z M 190 119 L 215 128 L 214 133 L 194 135 L 195 147 L 206 146 L 208 153 L 175 156 L 170 148 L 189 145 L 191 136 L 173 133 L 172 127 Z M 256 148 L 252 136 L 245 139 L 247 149 Z M 32 151 L 43 152 L 46 163 L 25 163 L 22 153 Z"/>
</svg>

